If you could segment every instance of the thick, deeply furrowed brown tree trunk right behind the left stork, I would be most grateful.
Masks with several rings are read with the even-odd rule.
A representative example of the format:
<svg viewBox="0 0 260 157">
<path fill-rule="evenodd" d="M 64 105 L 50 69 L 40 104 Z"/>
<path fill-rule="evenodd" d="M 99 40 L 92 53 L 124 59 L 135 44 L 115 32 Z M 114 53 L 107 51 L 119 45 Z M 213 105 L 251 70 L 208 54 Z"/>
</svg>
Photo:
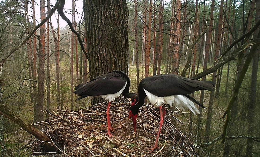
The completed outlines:
<svg viewBox="0 0 260 157">
<path fill-rule="evenodd" d="M 128 8 L 126 1 L 84 0 L 84 15 L 90 79 L 112 70 L 122 70 L 127 74 Z"/>
</svg>

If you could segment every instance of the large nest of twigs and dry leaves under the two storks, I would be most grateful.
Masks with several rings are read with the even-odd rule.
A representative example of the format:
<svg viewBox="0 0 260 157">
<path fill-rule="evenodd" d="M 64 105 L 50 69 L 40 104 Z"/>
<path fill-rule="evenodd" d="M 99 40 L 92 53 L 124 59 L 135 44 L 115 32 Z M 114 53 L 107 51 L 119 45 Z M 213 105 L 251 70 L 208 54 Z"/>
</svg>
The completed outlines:
<svg viewBox="0 0 260 157">
<path fill-rule="evenodd" d="M 197 156 L 194 142 L 188 134 L 175 128 L 168 117 L 178 112 L 167 111 L 159 136 L 158 147 L 152 153 L 145 148 L 154 145 L 158 132 L 159 109 L 146 104 L 140 108 L 136 119 L 136 133 L 132 120 L 128 120 L 129 106 L 126 103 L 111 104 L 110 121 L 113 137 L 108 138 L 107 103 L 96 104 L 78 111 L 50 113 L 44 133 L 59 149 L 58 156 Z M 44 152 L 40 141 L 35 140 L 28 148 L 34 155 Z M 28 150 L 27 149 L 27 150 Z M 199 148 L 198 148 L 199 149 Z M 54 155 L 54 154 L 53 154 Z"/>
</svg>

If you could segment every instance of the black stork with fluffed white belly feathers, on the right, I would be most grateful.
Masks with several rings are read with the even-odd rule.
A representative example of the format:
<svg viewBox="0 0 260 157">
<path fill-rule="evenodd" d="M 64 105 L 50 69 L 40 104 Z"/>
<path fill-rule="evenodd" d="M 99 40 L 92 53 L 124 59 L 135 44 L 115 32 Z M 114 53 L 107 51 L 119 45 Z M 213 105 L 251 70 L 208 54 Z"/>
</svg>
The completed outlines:
<svg viewBox="0 0 260 157">
<path fill-rule="evenodd" d="M 211 81 L 200 81 L 181 77 L 175 74 L 161 74 L 142 79 L 138 87 L 139 102 L 136 105 L 132 103 L 129 111 L 129 118 L 130 116 L 132 117 L 134 131 L 136 132 L 136 117 L 138 114 L 138 109 L 144 105 L 144 100 L 147 96 L 153 105 L 160 108 L 161 117 L 160 127 L 154 147 L 148 148 L 152 152 L 155 148 L 157 148 L 158 137 L 164 121 L 164 116 L 166 114 L 163 105 L 170 104 L 170 106 L 173 105 L 181 110 L 183 110 L 184 107 L 188 107 L 194 114 L 196 114 L 195 111 L 199 113 L 192 101 L 203 108 L 205 107 L 187 94 L 198 90 L 213 91 L 214 87 L 215 84 Z M 138 97 L 136 100 L 138 100 Z"/>
</svg>

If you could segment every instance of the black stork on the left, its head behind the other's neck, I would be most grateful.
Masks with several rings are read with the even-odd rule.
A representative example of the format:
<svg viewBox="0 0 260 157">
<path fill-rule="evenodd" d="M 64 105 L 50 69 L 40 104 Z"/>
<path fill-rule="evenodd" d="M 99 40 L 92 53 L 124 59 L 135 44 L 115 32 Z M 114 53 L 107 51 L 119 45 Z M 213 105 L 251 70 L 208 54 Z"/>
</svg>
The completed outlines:
<svg viewBox="0 0 260 157">
<path fill-rule="evenodd" d="M 79 84 L 75 87 L 74 93 L 78 96 L 81 96 L 77 98 L 77 100 L 80 100 L 85 97 L 90 97 L 89 101 L 97 96 L 101 96 L 103 99 L 109 101 L 107 106 L 107 134 L 109 138 L 113 136 L 110 133 L 111 124 L 110 124 L 110 118 L 109 118 L 109 107 L 110 102 L 114 101 L 115 98 L 118 98 L 120 94 L 122 93 L 124 97 L 131 98 L 132 105 L 135 104 L 137 101 L 135 98 L 135 93 L 129 93 L 130 87 L 130 79 L 128 76 L 119 70 L 114 70 L 105 74 L 102 74 L 89 82 L 85 84 Z"/>
</svg>

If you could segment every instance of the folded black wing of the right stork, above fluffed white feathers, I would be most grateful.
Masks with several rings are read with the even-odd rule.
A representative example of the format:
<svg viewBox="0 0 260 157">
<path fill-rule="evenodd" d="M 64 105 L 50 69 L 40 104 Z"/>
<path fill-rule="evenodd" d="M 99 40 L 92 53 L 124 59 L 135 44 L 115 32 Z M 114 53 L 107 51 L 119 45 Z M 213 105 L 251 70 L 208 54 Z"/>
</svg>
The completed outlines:
<svg viewBox="0 0 260 157">
<path fill-rule="evenodd" d="M 200 81 L 175 74 L 162 74 L 144 78 L 140 84 L 148 92 L 165 97 L 169 95 L 186 95 L 198 90 L 214 90 L 211 81 Z"/>
</svg>

